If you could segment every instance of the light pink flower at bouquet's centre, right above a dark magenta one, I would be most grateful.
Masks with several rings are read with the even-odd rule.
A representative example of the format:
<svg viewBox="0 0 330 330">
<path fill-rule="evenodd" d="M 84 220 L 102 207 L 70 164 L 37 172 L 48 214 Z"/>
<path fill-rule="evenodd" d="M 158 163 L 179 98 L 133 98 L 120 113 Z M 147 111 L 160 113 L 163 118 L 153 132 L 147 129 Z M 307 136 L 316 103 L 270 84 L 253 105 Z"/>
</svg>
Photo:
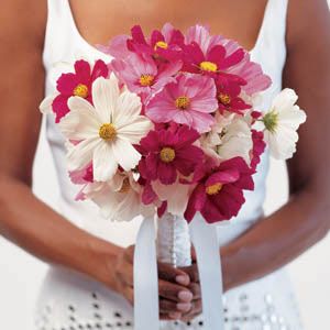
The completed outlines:
<svg viewBox="0 0 330 330">
<path fill-rule="evenodd" d="M 174 121 L 199 133 L 210 131 L 218 109 L 213 79 L 198 75 L 179 75 L 146 105 L 145 114 L 156 123 Z"/>
</svg>

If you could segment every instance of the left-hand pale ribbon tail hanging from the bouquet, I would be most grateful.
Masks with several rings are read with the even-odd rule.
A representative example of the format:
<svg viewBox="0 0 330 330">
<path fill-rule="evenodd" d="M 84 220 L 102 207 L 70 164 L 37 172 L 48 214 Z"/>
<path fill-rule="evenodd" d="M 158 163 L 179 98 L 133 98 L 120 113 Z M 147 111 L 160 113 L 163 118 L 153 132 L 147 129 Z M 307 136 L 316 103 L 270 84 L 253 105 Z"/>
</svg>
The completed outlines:
<svg viewBox="0 0 330 330">
<path fill-rule="evenodd" d="M 134 252 L 134 330 L 160 329 L 155 219 L 145 218 Z"/>
</svg>

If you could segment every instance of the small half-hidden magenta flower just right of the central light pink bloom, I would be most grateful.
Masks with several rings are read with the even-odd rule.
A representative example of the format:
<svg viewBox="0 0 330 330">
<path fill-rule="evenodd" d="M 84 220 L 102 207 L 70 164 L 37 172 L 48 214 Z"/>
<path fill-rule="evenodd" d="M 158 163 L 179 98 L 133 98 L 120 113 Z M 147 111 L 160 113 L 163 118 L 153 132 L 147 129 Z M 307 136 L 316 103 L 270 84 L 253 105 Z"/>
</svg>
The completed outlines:
<svg viewBox="0 0 330 330">
<path fill-rule="evenodd" d="M 218 79 L 216 85 L 219 110 L 221 113 L 227 110 L 239 114 L 244 114 L 244 110 L 251 109 L 251 106 L 245 103 L 244 100 L 240 98 L 240 84 L 233 80 Z"/>
</svg>

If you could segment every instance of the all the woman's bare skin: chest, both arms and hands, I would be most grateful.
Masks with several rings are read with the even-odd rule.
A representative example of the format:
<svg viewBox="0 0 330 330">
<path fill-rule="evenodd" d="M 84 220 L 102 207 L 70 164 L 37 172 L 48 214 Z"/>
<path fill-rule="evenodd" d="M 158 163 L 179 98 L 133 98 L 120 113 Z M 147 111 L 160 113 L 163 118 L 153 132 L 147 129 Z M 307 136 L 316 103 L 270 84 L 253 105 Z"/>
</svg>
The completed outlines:
<svg viewBox="0 0 330 330">
<path fill-rule="evenodd" d="M 198 18 L 198 22 L 209 23 L 213 33 L 235 38 L 248 50 L 254 46 L 265 0 L 207 0 L 204 6 L 200 3 L 198 0 L 70 2 L 80 34 L 90 44 L 106 43 L 113 35 L 128 32 L 135 23 L 142 24 L 145 31 L 166 21 L 186 29 L 196 23 L 194 18 Z M 312 24 L 309 24 L 310 18 L 317 18 Z M 326 0 L 289 1 L 283 85 L 297 91 L 299 106 L 306 110 L 308 121 L 299 131 L 298 151 L 287 164 L 289 201 L 220 251 L 226 290 L 274 272 L 328 233 L 329 22 Z M 45 24 L 46 1 L 30 1 L 29 6 L 23 0 L 2 1 L 0 233 L 48 263 L 103 283 L 133 304 L 134 246 L 122 249 L 76 228 L 31 190 L 41 124 L 37 108 L 44 96 Z M 158 264 L 158 277 L 163 319 L 189 320 L 200 314 L 196 263 L 183 270 Z"/>
</svg>

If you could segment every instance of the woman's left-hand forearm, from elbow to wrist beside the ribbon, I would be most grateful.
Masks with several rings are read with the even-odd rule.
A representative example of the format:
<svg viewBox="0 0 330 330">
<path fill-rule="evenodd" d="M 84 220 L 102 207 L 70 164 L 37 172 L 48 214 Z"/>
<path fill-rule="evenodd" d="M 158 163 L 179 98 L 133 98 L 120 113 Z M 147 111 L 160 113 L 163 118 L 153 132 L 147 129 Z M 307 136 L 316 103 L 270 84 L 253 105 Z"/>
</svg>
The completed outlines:
<svg viewBox="0 0 330 330">
<path fill-rule="evenodd" d="M 38 258 L 114 285 L 111 263 L 121 248 L 75 227 L 10 177 L 0 177 L 0 233 Z"/>
</svg>

